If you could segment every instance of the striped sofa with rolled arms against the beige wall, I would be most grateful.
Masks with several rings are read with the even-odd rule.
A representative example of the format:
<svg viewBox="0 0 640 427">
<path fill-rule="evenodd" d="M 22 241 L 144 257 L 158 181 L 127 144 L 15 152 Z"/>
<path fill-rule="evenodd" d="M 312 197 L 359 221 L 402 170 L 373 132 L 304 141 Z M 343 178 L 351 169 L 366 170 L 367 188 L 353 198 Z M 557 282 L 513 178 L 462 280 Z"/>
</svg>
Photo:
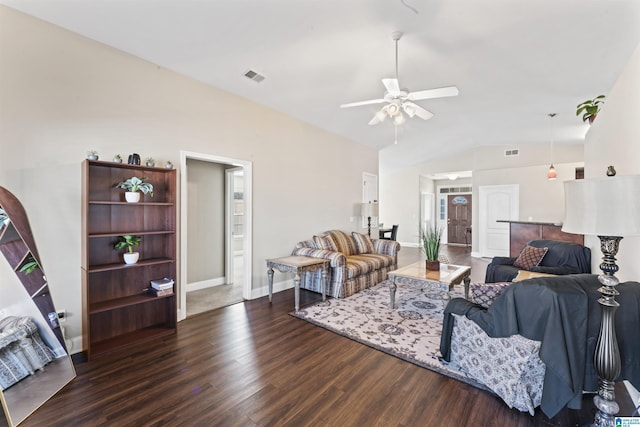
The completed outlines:
<svg viewBox="0 0 640 427">
<path fill-rule="evenodd" d="M 296 244 L 292 255 L 331 261 L 327 295 L 345 298 L 386 280 L 398 268 L 400 244 L 393 240 L 371 239 L 366 234 L 331 230 Z M 322 274 L 305 274 L 300 287 L 322 292 Z"/>
</svg>

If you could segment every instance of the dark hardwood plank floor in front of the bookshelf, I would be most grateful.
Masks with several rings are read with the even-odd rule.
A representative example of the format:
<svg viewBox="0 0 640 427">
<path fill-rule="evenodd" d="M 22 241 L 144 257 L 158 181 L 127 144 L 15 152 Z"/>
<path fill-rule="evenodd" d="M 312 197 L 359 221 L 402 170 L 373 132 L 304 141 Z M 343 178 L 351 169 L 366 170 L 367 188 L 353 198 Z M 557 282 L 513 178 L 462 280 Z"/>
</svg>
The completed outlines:
<svg viewBox="0 0 640 427">
<path fill-rule="evenodd" d="M 409 261 L 406 251 L 403 263 Z M 320 299 L 303 291 L 301 303 Z M 180 322 L 175 336 L 77 363 L 78 377 L 24 426 L 574 426 L 592 420 L 590 398 L 582 411 L 532 417 L 485 391 L 289 316 L 292 309 L 293 291 L 283 291 L 272 304 L 265 297 L 202 313 Z"/>
</svg>

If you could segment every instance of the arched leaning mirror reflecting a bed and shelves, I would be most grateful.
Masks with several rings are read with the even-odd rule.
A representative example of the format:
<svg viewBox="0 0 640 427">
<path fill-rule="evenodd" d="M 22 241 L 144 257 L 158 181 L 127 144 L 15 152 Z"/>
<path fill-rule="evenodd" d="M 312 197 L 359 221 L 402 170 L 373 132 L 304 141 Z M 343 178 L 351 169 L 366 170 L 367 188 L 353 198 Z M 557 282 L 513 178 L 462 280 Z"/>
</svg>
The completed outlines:
<svg viewBox="0 0 640 427">
<path fill-rule="evenodd" d="M 76 373 L 26 212 L 3 187 L 0 252 L 8 262 L 0 268 L 0 398 L 7 424 L 15 426 Z"/>
</svg>

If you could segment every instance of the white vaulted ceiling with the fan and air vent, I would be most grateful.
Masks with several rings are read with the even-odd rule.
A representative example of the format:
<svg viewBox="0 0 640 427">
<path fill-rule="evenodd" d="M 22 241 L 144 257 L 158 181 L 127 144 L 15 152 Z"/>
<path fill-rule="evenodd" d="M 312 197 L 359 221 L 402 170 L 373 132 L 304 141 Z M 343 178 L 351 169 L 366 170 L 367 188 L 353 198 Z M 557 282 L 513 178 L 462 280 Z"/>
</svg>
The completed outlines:
<svg viewBox="0 0 640 427">
<path fill-rule="evenodd" d="M 640 40 L 638 0 L 0 3 L 376 147 L 383 174 L 477 145 L 581 143 L 576 105 L 609 93 Z M 379 105 L 338 107 L 382 97 L 395 30 L 402 87 L 460 89 L 418 101 L 435 116 L 402 125 L 397 145 L 389 121 L 367 125 Z"/>
</svg>

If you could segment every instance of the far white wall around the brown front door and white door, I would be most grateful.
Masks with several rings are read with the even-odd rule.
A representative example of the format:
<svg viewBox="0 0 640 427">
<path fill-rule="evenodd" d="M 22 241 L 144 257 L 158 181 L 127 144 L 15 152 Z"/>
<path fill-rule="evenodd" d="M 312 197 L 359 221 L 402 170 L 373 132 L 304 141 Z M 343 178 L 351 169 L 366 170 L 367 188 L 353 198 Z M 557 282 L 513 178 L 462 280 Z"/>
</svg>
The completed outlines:
<svg viewBox="0 0 640 427">
<path fill-rule="evenodd" d="M 504 157 L 504 150 L 519 148 L 520 155 Z M 427 162 L 401 172 L 380 177 L 380 211 L 383 218 L 399 224 L 398 241 L 416 244 L 418 242 L 420 177 L 454 171 L 473 171 L 473 213 L 472 223 L 478 222 L 478 186 L 521 184 L 520 219 L 561 221 L 564 217 L 564 189 L 562 181 L 573 179 L 575 167 L 582 166 L 582 145 L 556 145 L 554 166 L 558 172 L 556 181 L 546 178 L 549 169 L 549 147 L 508 146 L 479 147 L 447 159 Z M 422 178 L 424 179 L 424 178 Z M 455 181 L 453 181 L 455 182 Z M 425 184 L 428 186 L 428 184 Z M 456 184 L 457 185 L 457 184 Z M 436 189 L 434 188 L 434 191 Z M 436 195 L 437 199 L 437 195 Z M 398 222 L 399 221 L 399 222 Z M 389 222 L 384 219 L 384 222 Z M 472 229 L 472 251 L 477 253 L 478 229 Z"/>
</svg>

